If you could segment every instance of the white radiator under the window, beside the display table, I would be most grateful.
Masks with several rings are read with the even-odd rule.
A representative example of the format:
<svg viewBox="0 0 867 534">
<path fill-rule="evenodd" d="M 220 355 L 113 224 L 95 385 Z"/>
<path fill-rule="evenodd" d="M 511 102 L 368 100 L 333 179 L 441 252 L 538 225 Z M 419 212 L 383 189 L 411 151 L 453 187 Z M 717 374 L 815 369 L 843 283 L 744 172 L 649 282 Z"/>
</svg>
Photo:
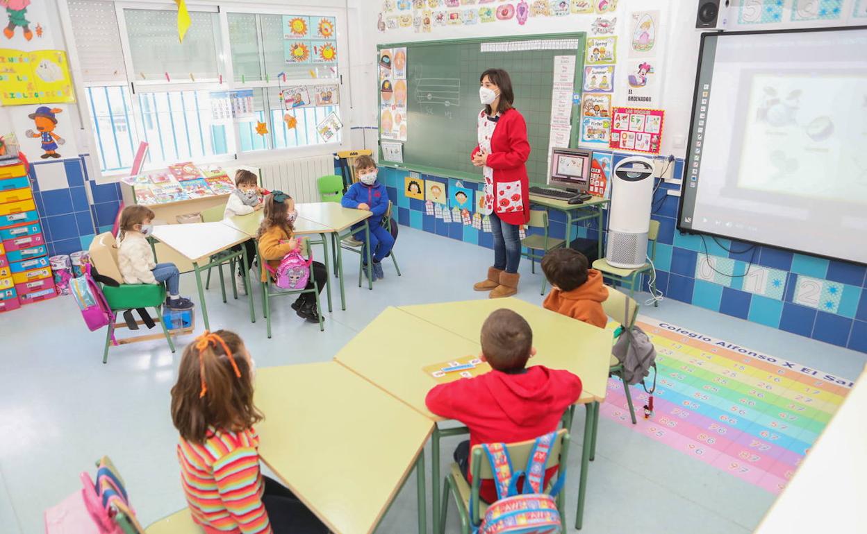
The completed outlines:
<svg viewBox="0 0 867 534">
<path fill-rule="evenodd" d="M 334 174 L 334 156 L 287 159 L 258 164 L 262 171 L 262 187 L 289 193 L 297 203 L 319 202 L 316 180 Z"/>
</svg>

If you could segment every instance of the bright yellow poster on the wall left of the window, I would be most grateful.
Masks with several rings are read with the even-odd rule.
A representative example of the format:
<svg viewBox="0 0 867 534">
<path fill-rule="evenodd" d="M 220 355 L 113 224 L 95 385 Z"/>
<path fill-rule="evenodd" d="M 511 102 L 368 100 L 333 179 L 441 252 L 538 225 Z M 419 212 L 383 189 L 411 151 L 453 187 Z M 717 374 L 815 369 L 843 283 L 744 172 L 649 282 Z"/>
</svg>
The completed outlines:
<svg viewBox="0 0 867 534">
<path fill-rule="evenodd" d="M 58 102 L 75 102 L 66 52 L 0 48 L 0 105 Z"/>
</svg>

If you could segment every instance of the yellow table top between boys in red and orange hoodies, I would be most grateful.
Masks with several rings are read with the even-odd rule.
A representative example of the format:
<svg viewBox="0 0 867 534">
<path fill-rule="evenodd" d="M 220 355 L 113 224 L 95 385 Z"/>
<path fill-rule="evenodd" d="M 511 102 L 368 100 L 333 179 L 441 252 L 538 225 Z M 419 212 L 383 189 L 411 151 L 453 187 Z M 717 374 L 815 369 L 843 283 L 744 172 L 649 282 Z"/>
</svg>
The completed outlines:
<svg viewBox="0 0 867 534">
<path fill-rule="evenodd" d="M 531 364 L 564 369 L 581 378 L 581 402 L 605 399 L 613 343 L 611 331 L 588 325 L 521 299 L 479 299 L 444 304 L 401 306 L 401 311 L 438 325 L 479 344 L 482 323 L 499 308 L 509 308 L 527 319 L 533 329 L 537 355 Z"/>
</svg>

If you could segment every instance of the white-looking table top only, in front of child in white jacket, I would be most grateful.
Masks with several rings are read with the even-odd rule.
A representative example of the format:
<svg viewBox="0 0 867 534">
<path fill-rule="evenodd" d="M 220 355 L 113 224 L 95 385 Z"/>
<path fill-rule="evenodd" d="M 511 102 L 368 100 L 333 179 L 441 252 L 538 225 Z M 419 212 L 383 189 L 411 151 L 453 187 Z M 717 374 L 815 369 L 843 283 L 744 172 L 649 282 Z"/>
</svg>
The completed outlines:
<svg viewBox="0 0 867 534">
<path fill-rule="evenodd" d="M 250 239 L 222 222 L 160 224 L 153 227 L 153 237 L 190 261 L 207 259 Z"/>
</svg>

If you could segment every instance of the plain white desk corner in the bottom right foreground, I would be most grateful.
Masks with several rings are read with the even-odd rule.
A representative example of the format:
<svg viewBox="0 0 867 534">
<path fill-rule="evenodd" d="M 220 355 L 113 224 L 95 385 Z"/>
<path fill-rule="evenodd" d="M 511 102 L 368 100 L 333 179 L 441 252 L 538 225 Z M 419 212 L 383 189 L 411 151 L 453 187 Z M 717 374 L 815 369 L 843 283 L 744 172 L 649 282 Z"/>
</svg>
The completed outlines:
<svg viewBox="0 0 867 534">
<path fill-rule="evenodd" d="M 771 505 L 757 534 L 867 530 L 865 409 L 867 370 Z"/>
</svg>

